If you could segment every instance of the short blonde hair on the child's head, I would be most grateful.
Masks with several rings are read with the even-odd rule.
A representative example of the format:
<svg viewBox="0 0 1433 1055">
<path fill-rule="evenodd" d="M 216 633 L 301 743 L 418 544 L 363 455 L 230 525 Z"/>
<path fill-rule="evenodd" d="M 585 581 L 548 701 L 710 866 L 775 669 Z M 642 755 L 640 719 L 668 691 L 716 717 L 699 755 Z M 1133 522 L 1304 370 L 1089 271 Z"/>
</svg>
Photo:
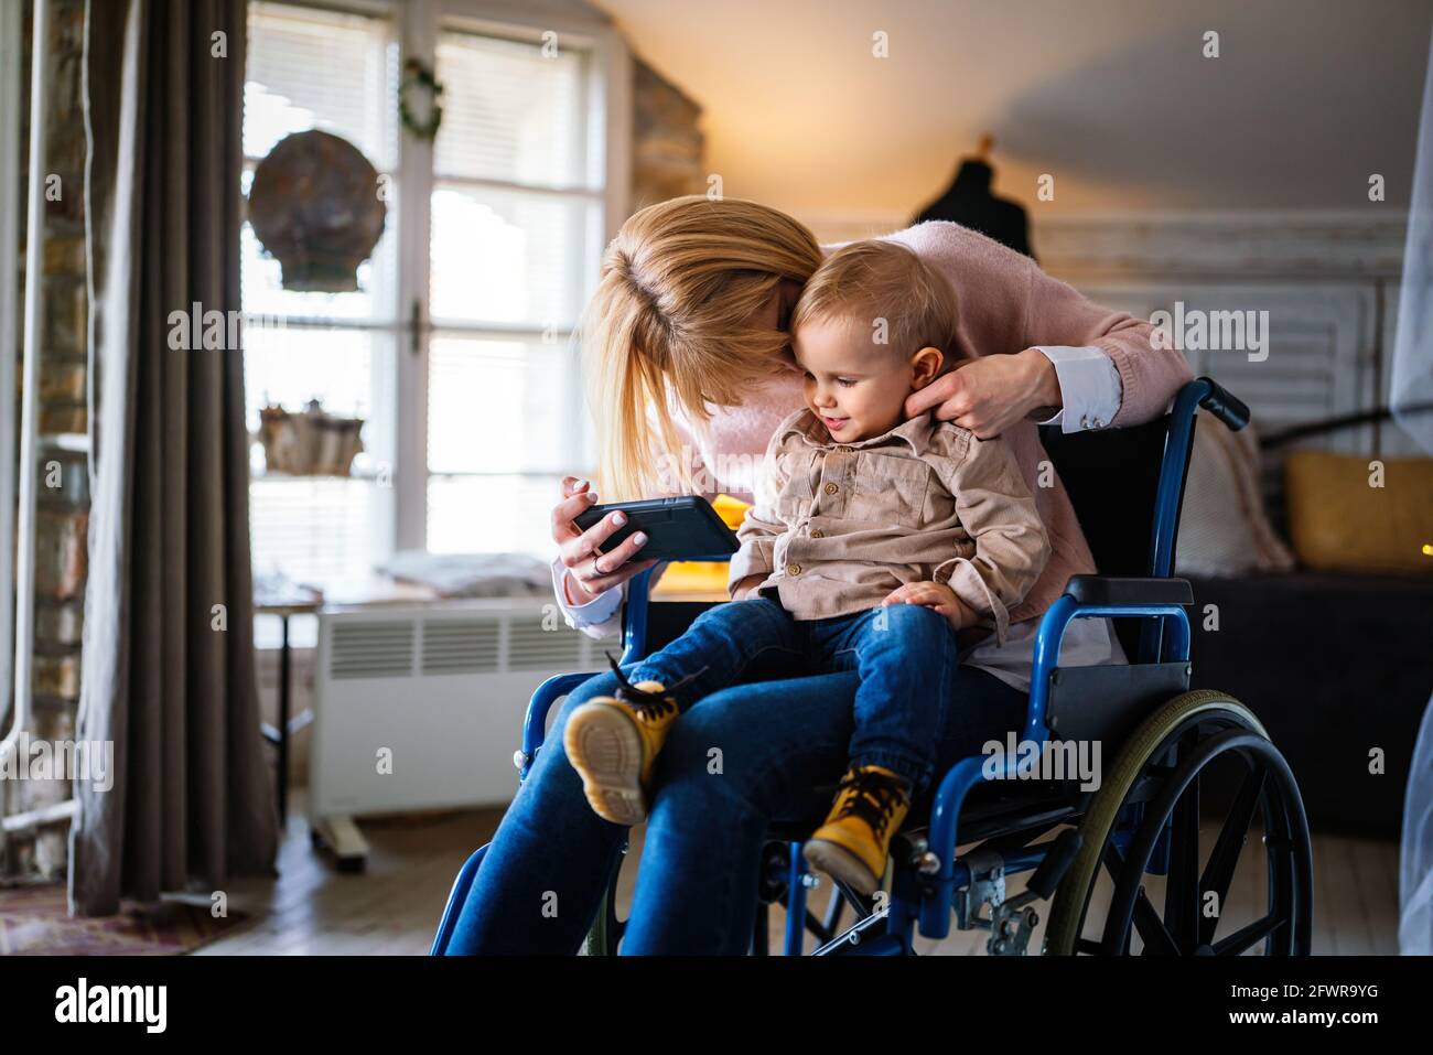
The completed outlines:
<svg viewBox="0 0 1433 1055">
<path fill-rule="evenodd" d="M 884 337 L 901 355 L 939 348 L 946 357 L 941 370 L 957 354 L 956 291 L 944 275 L 898 242 L 851 242 L 827 257 L 801 291 L 791 333 L 817 320 L 858 324 L 876 343 Z"/>
</svg>

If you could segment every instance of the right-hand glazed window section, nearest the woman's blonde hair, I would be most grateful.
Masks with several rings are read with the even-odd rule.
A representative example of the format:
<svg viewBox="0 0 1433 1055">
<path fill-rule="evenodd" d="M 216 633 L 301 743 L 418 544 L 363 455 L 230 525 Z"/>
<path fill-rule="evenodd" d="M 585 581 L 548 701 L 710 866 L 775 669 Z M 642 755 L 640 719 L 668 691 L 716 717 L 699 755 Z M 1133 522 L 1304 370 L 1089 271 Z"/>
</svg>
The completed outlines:
<svg viewBox="0 0 1433 1055">
<path fill-rule="evenodd" d="M 546 550 L 582 464 L 572 331 L 602 251 L 592 54 L 444 32 L 430 196 L 430 550 Z"/>
</svg>

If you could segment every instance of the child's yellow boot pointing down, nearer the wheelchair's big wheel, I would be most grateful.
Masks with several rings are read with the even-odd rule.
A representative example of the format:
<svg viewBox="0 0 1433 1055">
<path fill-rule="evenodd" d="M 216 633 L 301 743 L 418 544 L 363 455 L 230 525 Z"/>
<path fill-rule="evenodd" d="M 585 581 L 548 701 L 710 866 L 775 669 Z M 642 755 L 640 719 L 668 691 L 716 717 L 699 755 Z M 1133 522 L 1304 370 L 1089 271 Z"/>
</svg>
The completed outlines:
<svg viewBox="0 0 1433 1055">
<path fill-rule="evenodd" d="M 910 810 L 910 781 L 880 765 L 853 767 L 835 793 L 825 824 L 801 849 L 813 869 L 867 897 L 886 874 L 891 836 Z"/>
</svg>

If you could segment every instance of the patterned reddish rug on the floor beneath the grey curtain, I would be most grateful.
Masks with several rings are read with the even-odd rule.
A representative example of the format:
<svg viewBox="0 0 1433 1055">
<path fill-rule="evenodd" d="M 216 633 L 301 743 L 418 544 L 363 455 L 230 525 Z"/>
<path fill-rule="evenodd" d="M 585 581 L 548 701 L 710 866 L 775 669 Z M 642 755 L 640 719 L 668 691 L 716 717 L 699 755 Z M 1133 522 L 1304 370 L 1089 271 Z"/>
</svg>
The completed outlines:
<svg viewBox="0 0 1433 1055">
<path fill-rule="evenodd" d="M 0 956 L 173 956 L 245 920 L 232 910 L 215 919 L 208 903 L 182 902 L 126 903 L 118 916 L 75 919 L 62 884 L 6 887 L 0 889 Z"/>
</svg>

